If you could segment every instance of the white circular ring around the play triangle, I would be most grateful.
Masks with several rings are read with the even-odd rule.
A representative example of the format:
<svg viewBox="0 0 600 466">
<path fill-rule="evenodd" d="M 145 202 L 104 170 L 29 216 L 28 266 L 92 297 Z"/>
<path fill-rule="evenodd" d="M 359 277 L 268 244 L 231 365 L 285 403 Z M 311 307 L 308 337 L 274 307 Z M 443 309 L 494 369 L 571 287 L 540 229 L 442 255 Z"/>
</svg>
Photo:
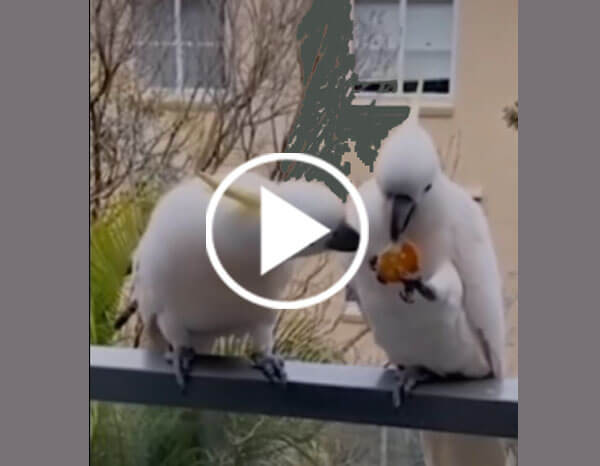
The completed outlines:
<svg viewBox="0 0 600 466">
<path fill-rule="evenodd" d="M 358 249 L 354 254 L 354 259 L 350 264 L 350 267 L 346 270 L 346 272 L 342 275 L 342 277 L 331 287 L 328 289 L 316 294 L 315 296 L 311 296 L 308 298 L 302 298 L 294 301 L 284 301 L 284 300 L 276 300 L 269 299 L 263 296 L 259 296 L 251 291 L 247 290 L 239 283 L 237 283 L 227 270 L 223 267 L 223 264 L 219 260 L 215 243 L 213 237 L 213 226 L 215 220 L 215 214 L 217 211 L 217 206 L 219 201 L 225 194 L 225 191 L 235 182 L 237 178 L 243 175 L 248 170 L 252 170 L 253 168 L 259 167 L 261 165 L 265 165 L 267 163 L 274 163 L 280 161 L 291 161 L 291 162 L 300 162 L 306 163 L 309 165 L 313 165 L 321 170 L 326 171 L 331 176 L 333 176 L 336 180 L 338 180 L 341 185 L 348 191 L 352 202 L 358 212 L 358 221 L 360 225 L 360 240 L 358 244 Z M 346 178 L 346 176 L 337 168 L 335 168 L 330 163 L 314 157 L 312 155 L 307 154 L 299 154 L 299 153 L 291 153 L 291 154 L 283 154 L 283 153 L 271 153 L 261 155 L 256 157 L 239 167 L 235 168 L 231 173 L 229 173 L 223 181 L 219 184 L 214 194 L 212 195 L 208 207 L 206 209 L 206 252 L 208 254 L 208 258 L 210 263 L 212 264 L 215 272 L 219 276 L 219 278 L 229 287 L 231 291 L 241 296 L 247 301 L 250 301 L 258 306 L 277 309 L 277 310 L 294 310 L 294 309 L 302 309 L 306 307 L 315 306 L 327 299 L 333 297 L 336 293 L 342 291 L 346 285 L 352 280 L 358 269 L 360 268 L 363 259 L 367 253 L 367 246 L 369 244 L 369 219 L 367 215 L 367 209 L 365 208 L 364 202 L 358 189 L 352 184 L 352 182 Z"/>
</svg>

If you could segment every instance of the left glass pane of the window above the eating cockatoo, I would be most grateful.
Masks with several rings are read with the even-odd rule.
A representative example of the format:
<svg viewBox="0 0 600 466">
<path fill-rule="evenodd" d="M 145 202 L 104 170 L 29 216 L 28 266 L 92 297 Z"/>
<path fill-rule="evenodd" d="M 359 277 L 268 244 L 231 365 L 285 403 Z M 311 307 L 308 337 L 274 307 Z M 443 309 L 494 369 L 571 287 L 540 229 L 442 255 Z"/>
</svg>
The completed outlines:
<svg viewBox="0 0 600 466">
<path fill-rule="evenodd" d="M 361 81 L 397 79 L 400 2 L 357 0 L 354 8 L 355 70 Z"/>
</svg>

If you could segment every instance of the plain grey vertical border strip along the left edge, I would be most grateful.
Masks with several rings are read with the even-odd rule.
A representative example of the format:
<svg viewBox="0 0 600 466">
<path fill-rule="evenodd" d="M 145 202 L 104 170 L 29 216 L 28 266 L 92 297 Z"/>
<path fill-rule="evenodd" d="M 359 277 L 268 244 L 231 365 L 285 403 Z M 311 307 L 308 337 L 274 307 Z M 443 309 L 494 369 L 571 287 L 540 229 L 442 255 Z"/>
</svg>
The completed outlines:
<svg viewBox="0 0 600 466">
<path fill-rule="evenodd" d="M 89 3 L 0 2 L 0 464 L 85 465 Z"/>
</svg>

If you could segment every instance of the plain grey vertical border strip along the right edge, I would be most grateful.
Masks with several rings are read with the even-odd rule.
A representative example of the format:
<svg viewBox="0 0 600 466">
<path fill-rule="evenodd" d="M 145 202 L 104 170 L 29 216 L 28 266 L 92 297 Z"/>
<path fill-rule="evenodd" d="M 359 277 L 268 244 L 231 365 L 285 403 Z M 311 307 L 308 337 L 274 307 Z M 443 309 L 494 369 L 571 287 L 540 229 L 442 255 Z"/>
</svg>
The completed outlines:
<svg viewBox="0 0 600 466">
<path fill-rule="evenodd" d="M 524 466 L 598 463 L 599 17 L 599 2 L 519 6 Z"/>
</svg>

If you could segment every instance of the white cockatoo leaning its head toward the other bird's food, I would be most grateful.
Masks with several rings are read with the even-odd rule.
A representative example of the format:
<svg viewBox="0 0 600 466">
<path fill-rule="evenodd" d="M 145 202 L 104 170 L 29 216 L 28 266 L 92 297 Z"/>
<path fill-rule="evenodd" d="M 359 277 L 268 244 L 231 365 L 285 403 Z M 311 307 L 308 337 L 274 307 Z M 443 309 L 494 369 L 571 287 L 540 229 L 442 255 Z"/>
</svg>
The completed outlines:
<svg viewBox="0 0 600 466">
<path fill-rule="evenodd" d="M 206 209 L 217 185 L 215 178 L 202 175 L 182 182 L 159 200 L 133 255 L 132 298 L 144 324 L 159 330 L 169 343 L 169 359 L 182 389 L 194 356 L 209 352 L 218 337 L 230 335 L 250 337 L 257 367 L 270 380 L 285 381 L 283 361 L 272 353 L 276 311 L 231 291 L 208 259 Z M 298 256 L 355 251 L 359 235 L 346 225 L 343 203 L 320 183 L 275 183 L 254 173 L 238 178 L 217 207 L 217 254 L 246 289 L 281 299 L 293 261 L 260 274 L 261 186 L 331 230 Z"/>
</svg>

